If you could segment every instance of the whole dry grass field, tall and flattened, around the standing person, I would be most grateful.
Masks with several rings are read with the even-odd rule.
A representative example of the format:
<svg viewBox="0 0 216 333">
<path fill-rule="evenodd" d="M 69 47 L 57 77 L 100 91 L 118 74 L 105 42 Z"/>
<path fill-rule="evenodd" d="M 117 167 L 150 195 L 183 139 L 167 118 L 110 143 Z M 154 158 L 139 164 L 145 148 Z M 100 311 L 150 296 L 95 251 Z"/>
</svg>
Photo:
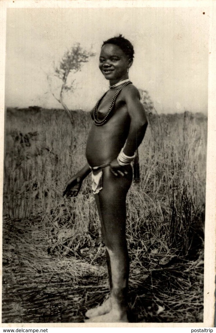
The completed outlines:
<svg viewBox="0 0 216 333">
<path fill-rule="evenodd" d="M 82 322 L 108 292 L 90 178 L 62 197 L 85 163 L 91 120 L 8 109 L 3 203 L 4 323 Z M 127 196 L 131 322 L 202 322 L 207 118 L 148 115 L 140 183 Z"/>
</svg>

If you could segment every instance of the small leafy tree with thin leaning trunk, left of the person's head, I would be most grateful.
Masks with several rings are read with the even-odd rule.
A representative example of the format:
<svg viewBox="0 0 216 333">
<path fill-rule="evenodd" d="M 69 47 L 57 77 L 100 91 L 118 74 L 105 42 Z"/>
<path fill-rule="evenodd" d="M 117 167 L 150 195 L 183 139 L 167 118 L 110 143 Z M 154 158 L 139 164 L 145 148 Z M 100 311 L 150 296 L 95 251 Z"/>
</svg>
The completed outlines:
<svg viewBox="0 0 216 333">
<path fill-rule="evenodd" d="M 81 71 L 81 67 L 84 63 L 89 61 L 89 58 L 94 56 L 93 52 L 88 52 L 83 50 L 80 46 L 80 43 L 74 44 L 70 50 L 67 50 L 58 66 L 54 64 L 54 76 L 61 80 L 60 90 L 58 97 L 53 93 L 51 83 L 50 83 L 50 75 L 47 75 L 47 80 L 49 82 L 50 91 L 54 98 L 63 106 L 66 111 L 68 117 L 70 118 L 71 124 L 73 125 L 73 118 L 71 116 L 70 110 L 64 103 L 64 94 L 68 91 L 74 90 L 74 82 L 75 79 L 68 82 L 68 76 L 70 73 L 76 73 Z"/>
</svg>

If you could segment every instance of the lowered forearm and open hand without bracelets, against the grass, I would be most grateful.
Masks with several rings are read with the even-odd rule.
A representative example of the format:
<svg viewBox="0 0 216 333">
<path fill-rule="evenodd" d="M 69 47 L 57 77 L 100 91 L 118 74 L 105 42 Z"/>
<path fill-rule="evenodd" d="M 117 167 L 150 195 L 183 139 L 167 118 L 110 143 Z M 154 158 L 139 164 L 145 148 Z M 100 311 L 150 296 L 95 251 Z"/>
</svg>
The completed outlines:
<svg viewBox="0 0 216 333">
<path fill-rule="evenodd" d="M 63 196 L 77 196 L 80 191 L 82 181 L 91 172 L 91 168 L 88 163 L 78 171 L 72 178 L 67 182 Z"/>
</svg>

